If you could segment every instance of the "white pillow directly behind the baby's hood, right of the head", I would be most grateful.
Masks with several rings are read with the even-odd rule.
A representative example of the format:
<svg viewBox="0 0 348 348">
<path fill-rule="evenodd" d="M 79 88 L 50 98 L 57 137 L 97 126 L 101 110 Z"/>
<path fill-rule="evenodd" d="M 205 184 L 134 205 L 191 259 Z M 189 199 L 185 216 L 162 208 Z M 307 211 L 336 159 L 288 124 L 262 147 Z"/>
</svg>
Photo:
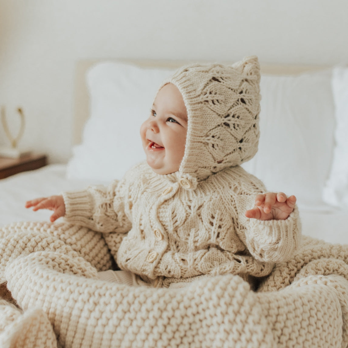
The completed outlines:
<svg viewBox="0 0 348 348">
<path fill-rule="evenodd" d="M 322 190 L 334 146 L 331 70 L 261 77 L 260 142 L 243 167 L 267 190 L 295 195 L 301 208 L 326 208 Z"/>
</svg>

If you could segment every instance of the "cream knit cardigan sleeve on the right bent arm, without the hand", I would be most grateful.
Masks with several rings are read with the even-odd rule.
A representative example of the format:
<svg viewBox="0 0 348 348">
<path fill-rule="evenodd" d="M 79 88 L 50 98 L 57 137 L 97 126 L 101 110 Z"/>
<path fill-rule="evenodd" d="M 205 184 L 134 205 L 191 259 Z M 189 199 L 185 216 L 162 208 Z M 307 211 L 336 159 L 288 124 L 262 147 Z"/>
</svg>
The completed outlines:
<svg viewBox="0 0 348 348">
<path fill-rule="evenodd" d="M 259 193 L 267 192 L 263 183 L 248 174 L 241 183 L 239 194 L 235 195 L 236 230 L 256 260 L 284 262 L 291 258 L 301 241 L 301 221 L 298 207 L 285 220 L 249 219 L 245 212 L 255 206 Z"/>
</svg>

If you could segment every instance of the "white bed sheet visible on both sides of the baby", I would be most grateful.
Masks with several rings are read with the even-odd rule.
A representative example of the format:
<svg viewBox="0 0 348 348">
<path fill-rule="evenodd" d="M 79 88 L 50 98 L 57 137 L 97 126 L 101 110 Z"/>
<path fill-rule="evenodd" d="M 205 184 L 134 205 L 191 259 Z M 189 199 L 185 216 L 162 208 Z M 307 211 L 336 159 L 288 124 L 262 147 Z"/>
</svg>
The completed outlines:
<svg viewBox="0 0 348 348">
<path fill-rule="evenodd" d="M 65 165 L 49 165 L 0 180 L 0 226 L 15 221 L 49 221 L 52 212 L 33 212 L 25 201 L 36 197 L 57 195 L 89 184 L 108 184 L 66 179 Z M 300 209 L 302 233 L 331 243 L 348 244 L 348 212 L 343 210 L 307 211 Z"/>
</svg>

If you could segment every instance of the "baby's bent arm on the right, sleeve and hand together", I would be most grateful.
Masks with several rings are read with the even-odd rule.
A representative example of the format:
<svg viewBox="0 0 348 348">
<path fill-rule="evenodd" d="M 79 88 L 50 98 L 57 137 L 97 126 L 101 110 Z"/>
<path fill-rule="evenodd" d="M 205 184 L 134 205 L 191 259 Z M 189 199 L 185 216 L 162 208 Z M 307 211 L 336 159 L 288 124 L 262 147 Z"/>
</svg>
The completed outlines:
<svg viewBox="0 0 348 348">
<path fill-rule="evenodd" d="M 301 241 L 301 221 L 295 197 L 266 193 L 263 183 L 241 167 L 231 170 L 234 227 L 255 259 L 289 260 Z"/>
</svg>

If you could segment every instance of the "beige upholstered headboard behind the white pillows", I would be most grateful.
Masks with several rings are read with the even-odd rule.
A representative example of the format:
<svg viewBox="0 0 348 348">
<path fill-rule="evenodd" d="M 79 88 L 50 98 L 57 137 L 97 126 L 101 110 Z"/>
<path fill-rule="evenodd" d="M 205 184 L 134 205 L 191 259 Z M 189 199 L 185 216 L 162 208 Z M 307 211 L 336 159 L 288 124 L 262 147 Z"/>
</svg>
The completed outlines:
<svg viewBox="0 0 348 348">
<path fill-rule="evenodd" d="M 96 63 L 115 61 L 135 64 L 144 68 L 179 68 L 193 61 L 158 61 L 158 60 L 129 60 L 129 59 L 92 59 L 81 60 L 76 63 L 75 69 L 75 98 L 74 98 L 74 129 L 73 143 L 81 142 L 82 129 L 89 115 L 89 95 L 86 85 L 86 72 Z M 204 61 L 202 61 L 204 62 Z M 222 62 L 232 64 L 231 62 Z M 261 64 L 261 72 L 274 75 L 295 75 L 303 72 L 318 71 L 325 69 L 322 65 L 284 65 L 284 64 Z"/>
</svg>

